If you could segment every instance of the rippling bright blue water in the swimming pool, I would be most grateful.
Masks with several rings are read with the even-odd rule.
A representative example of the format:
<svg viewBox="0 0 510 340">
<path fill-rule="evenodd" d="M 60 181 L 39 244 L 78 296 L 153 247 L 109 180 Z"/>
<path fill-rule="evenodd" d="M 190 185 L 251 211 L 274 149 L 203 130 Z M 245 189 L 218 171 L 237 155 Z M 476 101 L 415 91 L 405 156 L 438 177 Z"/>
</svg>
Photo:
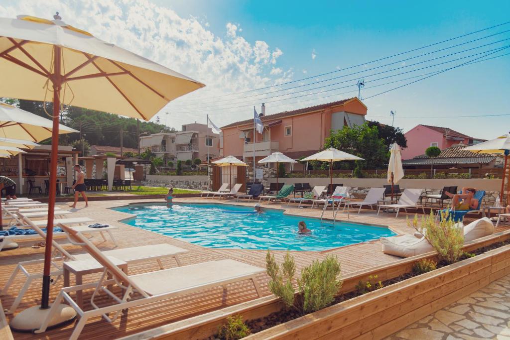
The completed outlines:
<svg viewBox="0 0 510 340">
<path fill-rule="evenodd" d="M 114 208 L 136 215 L 126 224 L 209 248 L 320 251 L 394 236 L 390 229 L 337 222 L 321 226 L 320 220 L 287 216 L 266 209 L 253 214 L 251 207 L 225 204 L 173 204 Z M 311 235 L 297 233 L 305 221 Z"/>
</svg>

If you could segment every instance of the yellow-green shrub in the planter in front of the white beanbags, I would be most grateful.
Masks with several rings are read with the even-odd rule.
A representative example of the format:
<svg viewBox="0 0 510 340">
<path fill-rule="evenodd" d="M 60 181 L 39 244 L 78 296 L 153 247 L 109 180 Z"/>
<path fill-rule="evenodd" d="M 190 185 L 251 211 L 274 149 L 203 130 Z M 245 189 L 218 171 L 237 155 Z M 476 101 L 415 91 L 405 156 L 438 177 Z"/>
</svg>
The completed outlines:
<svg viewBox="0 0 510 340">
<path fill-rule="evenodd" d="M 440 221 L 436 222 L 433 212 L 428 217 L 422 217 L 421 225 L 418 223 L 418 215 L 413 221 L 407 220 L 407 224 L 421 232 L 425 239 L 436 249 L 440 260 L 452 264 L 463 255 L 464 234 L 462 228 L 458 228 L 449 215 L 449 209 L 442 211 Z"/>
</svg>

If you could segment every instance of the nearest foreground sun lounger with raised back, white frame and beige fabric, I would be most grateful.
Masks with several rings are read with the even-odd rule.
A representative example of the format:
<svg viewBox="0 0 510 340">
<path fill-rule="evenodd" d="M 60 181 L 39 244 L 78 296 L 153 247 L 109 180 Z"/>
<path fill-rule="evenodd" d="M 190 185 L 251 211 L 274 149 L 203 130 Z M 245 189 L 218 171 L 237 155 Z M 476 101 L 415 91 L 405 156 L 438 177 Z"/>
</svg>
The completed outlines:
<svg viewBox="0 0 510 340">
<path fill-rule="evenodd" d="M 82 234 L 65 225 L 61 225 L 61 228 L 69 234 L 69 239 L 73 244 L 81 245 L 94 259 L 105 267 L 105 271 L 98 282 L 85 283 L 61 289 L 46 319 L 39 329 L 34 330 L 34 333 L 42 333 L 46 330 L 49 320 L 52 320 L 55 313 L 58 312 L 58 307 L 62 300 L 69 302 L 70 306 L 74 308 L 80 316 L 80 320 L 75 325 L 69 338 L 70 340 L 76 340 L 89 318 L 102 315 L 108 322 L 114 322 L 121 315 L 122 310 L 130 307 L 159 302 L 218 286 L 223 286 L 223 289 L 225 289 L 227 284 L 243 280 L 251 280 L 257 294 L 259 296 L 261 295 L 255 276 L 264 273 L 264 268 L 251 266 L 233 259 L 224 259 L 163 269 L 150 273 L 126 275 Z M 110 274 L 113 279 L 107 279 L 107 273 Z M 122 298 L 118 298 L 107 287 L 109 284 L 115 282 L 123 282 L 125 291 L 123 292 Z M 85 289 L 95 289 L 90 299 L 91 305 L 94 308 L 92 310 L 83 311 L 69 295 L 71 292 Z M 108 294 L 116 303 L 105 307 L 97 306 L 94 300 L 100 291 Z M 131 296 L 133 292 L 139 294 Z M 130 300 L 128 301 L 129 298 Z M 109 313 L 112 312 L 113 317 L 109 315 Z"/>
</svg>

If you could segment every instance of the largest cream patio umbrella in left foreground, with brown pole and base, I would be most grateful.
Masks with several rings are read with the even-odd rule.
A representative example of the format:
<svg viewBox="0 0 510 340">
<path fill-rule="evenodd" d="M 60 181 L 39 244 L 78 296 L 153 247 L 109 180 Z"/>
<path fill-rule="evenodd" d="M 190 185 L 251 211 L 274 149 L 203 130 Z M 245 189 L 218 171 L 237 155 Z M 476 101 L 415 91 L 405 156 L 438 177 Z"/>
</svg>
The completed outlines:
<svg viewBox="0 0 510 340">
<path fill-rule="evenodd" d="M 11 322 L 11 327 L 25 330 L 39 327 L 49 307 L 61 104 L 149 120 L 170 100 L 204 86 L 67 25 L 58 13 L 54 18 L 53 21 L 31 16 L 0 18 L 0 96 L 53 101 L 52 171 L 41 307 L 24 310 Z M 52 321 L 51 326 L 63 319 L 66 318 Z"/>
</svg>

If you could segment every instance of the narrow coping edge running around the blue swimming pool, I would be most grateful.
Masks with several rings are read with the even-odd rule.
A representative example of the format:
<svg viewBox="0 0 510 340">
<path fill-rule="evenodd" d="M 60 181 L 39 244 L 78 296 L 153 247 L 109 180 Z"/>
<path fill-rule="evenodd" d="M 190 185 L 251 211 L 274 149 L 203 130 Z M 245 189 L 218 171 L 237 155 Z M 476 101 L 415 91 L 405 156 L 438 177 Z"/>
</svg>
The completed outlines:
<svg viewBox="0 0 510 340">
<path fill-rule="evenodd" d="M 231 206 L 245 206 L 245 205 L 242 205 L 242 204 L 227 203 L 227 202 L 211 202 L 211 203 L 212 204 L 231 205 Z M 211 204 L 211 203 L 209 203 L 209 202 L 207 202 L 207 203 L 206 202 L 193 202 L 193 203 L 190 203 L 190 202 L 180 202 L 180 201 L 173 202 L 173 204 Z M 147 204 L 151 204 L 151 205 L 166 205 L 165 202 L 161 202 L 161 201 L 132 202 L 132 203 L 122 204 L 122 205 L 118 205 L 118 206 L 112 206 L 112 207 L 109 207 L 109 209 L 110 210 L 114 210 L 115 208 L 119 208 L 119 207 L 123 207 L 123 206 L 146 206 Z M 320 220 L 320 218 L 318 218 L 318 217 L 303 216 L 303 215 L 287 213 L 287 211 L 289 211 L 290 209 L 285 209 L 285 208 L 281 208 L 281 207 L 264 207 L 264 209 L 283 211 L 283 214 L 284 215 L 288 215 L 288 216 L 295 216 L 295 217 L 303 217 L 303 218 L 307 218 L 307 219 Z M 116 211 L 116 212 L 117 213 L 121 213 L 121 214 L 129 215 L 128 217 L 125 217 L 125 218 L 122 218 L 120 220 L 117 220 L 117 222 L 123 223 L 123 224 L 125 224 L 127 226 L 130 226 L 130 227 L 138 228 L 136 226 L 124 223 L 124 221 L 136 218 L 136 215 L 125 213 L 125 212 L 120 212 L 120 211 Z M 332 218 L 324 217 L 323 219 L 328 220 L 328 221 L 333 221 Z M 401 236 L 402 235 L 402 233 L 400 233 L 397 230 L 393 229 L 389 225 L 370 224 L 370 223 L 364 223 L 364 222 L 351 222 L 350 220 L 344 220 L 344 219 L 336 219 L 336 221 L 338 221 L 338 222 L 345 222 L 345 223 L 352 223 L 352 224 L 361 224 L 361 225 L 372 226 L 372 227 L 377 227 L 377 228 L 388 228 L 389 230 L 391 230 L 392 232 L 394 232 L 396 234 L 395 236 Z M 139 229 L 141 229 L 141 228 L 139 228 Z M 213 250 L 213 251 L 214 250 L 242 250 L 242 251 L 264 251 L 264 250 L 269 250 L 269 249 L 242 249 L 242 248 L 210 248 L 210 247 L 205 247 L 205 246 L 202 246 L 202 245 L 199 245 L 199 244 L 196 244 L 196 243 L 192 243 L 192 242 L 189 242 L 189 241 L 186 241 L 186 240 L 176 239 L 176 238 L 173 238 L 173 237 L 168 236 L 168 235 L 163 235 L 163 234 L 157 233 L 155 231 L 146 230 L 146 229 L 142 229 L 142 230 L 145 230 L 145 231 L 148 231 L 148 232 L 154 232 L 154 233 L 156 233 L 158 235 L 161 235 L 161 236 L 173 239 L 173 240 L 177 240 L 177 241 L 181 241 L 181 242 L 186 242 L 186 243 L 192 244 L 194 246 L 202 247 L 204 249 Z M 375 242 L 378 242 L 379 240 L 380 240 L 380 238 L 379 239 L 375 239 L 375 240 L 370 240 L 370 241 L 364 241 L 364 242 L 357 242 L 357 243 L 353 243 L 353 244 L 347 244 L 345 246 L 340 246 L 340 247 L 335 247 L 335 248 L 330 248 L 330 249 L 324 249 L 324 250 L 290 250 L 290 251 L 326 253 L 326 252 L 334 251 L 334 250 L 337 250 L 337 249 L 342 249 L 342 248 L 346 248 L 346 247 L 352 247 L 352 246 L 356 246 L 356 245 L 360 245 L 360 244 L 375 243 Z M 281 250 L 281 249 L 270 249 L 270 250 L 271 251 L 288 251 L 288 250 Z"/>
</svg>

